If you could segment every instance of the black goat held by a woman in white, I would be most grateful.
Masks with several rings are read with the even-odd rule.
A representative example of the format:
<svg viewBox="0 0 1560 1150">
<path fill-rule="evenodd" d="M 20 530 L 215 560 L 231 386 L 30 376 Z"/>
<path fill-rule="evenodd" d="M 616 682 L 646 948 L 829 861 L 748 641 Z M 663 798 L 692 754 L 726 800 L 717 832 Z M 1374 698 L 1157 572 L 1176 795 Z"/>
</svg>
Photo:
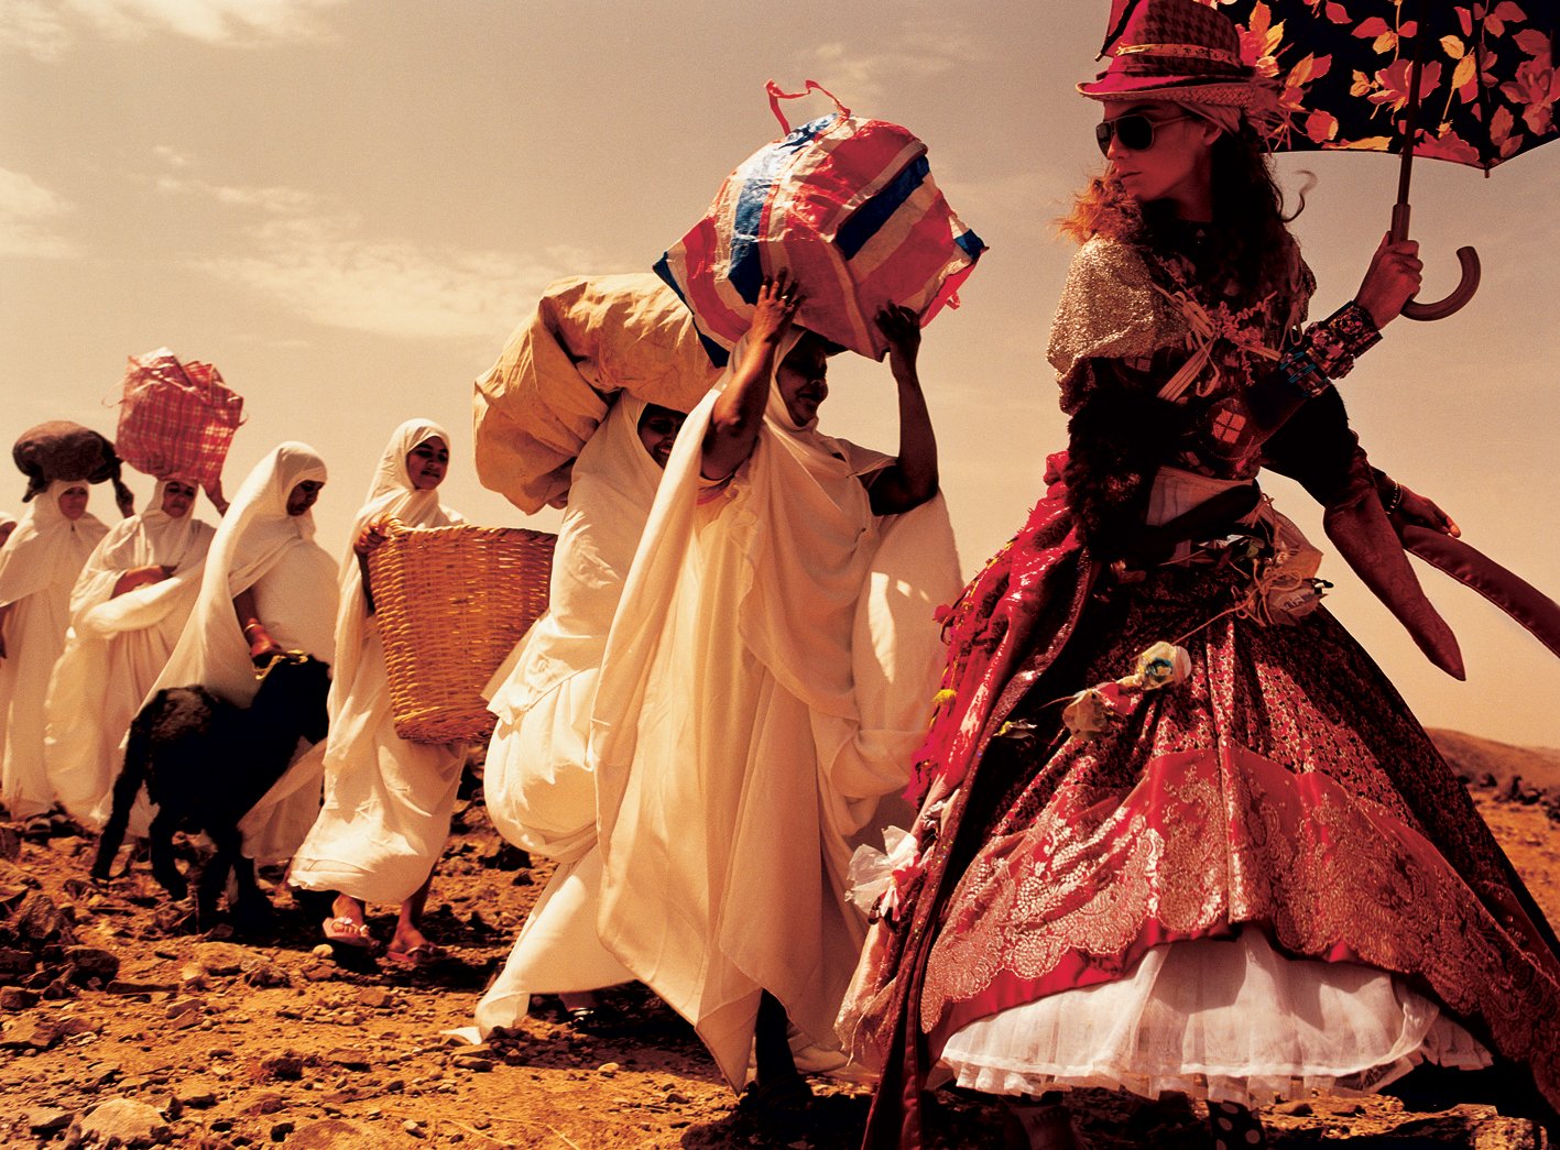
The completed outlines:
<svg viewBox="0 0 1560 1150">
<path fill-rule="evenodd" d="M 204 830 L 217 846 L 200 875 L 197 916 L 207 922 L 228 885 L 239 883 L 234 918 L 259 927 L 270 903 L 243 857 L 242 819 L 281 779 L 298 740 L 318 743 L 329 719 L 324 701 L 331 668 L 314 655 L 289 652 L 261 674 L 254 702 L 237 707 L 204 687 L 158 691 L 134 722 L 125 744 L 125 769 L 114 783 L 114 813 L 103 827 L 92 877 L 106 880 L 125 838 L 129 808 L 140 785 L 158 804 L 151 821 L 151 872 L 175 899 L 189 894 L 173 861 L 173 832 Z"/>
</svg>

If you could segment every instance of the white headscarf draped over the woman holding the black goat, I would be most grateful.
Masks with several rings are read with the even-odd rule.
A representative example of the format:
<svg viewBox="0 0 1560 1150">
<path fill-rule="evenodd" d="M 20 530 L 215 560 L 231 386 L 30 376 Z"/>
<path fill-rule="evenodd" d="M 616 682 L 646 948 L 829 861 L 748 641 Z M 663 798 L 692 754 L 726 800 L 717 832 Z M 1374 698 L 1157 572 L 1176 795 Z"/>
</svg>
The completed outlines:
<svg viewBox="0 0 1560 1150">
<path fill-rule="evenodd" d="M 314 513 L 287 513 L 287 496 L 301 482 L 326 481 L 324 460 L 306 443 L 282 443 L 254 465 L 217 529 L 201 576 L 200 598 L 184 634 L 150 694 L 164 687 L 201 683 L 225 699 L 246 705 L 254 697 L 248 644 L 232 610 L 232 598 L 270 571 L 282 555 L 314 545 Z M 329 562 L 329 560 L 326 560 Z M 329 599 L 326 593 L 320 596 Z M 300 604 L 314 615 L 335 604 Z M 329 658 L 329 630 L 312 654 Z"/>
</svg>

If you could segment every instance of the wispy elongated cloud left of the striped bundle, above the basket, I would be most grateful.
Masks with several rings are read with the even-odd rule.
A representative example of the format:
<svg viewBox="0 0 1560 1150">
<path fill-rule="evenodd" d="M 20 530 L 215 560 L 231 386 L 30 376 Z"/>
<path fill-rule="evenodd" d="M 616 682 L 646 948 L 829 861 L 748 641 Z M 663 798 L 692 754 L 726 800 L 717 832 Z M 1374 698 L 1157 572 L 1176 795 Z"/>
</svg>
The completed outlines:
<svg viewBox="0 0 1560 1150">
<path fill-rule="evenodd" d="M 271 220 L 243 256 L 192 267 L 293 309 L 300 317 L 399 339 L 491 340 L 513 328 L 516 300 L 535 300 L 577 251 L 523 257 L 362 239 L 353 217 Z"/>
</svg>

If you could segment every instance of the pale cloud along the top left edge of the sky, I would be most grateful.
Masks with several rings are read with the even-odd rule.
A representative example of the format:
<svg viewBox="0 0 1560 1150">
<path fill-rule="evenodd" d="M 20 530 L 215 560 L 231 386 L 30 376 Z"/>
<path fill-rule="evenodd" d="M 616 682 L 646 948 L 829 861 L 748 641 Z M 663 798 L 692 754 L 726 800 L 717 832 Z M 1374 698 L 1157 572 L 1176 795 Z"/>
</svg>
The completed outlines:
<svg viewBox="0 0 1560 1150">
<path fill-rule="evenodd" d="M 318 12 L 340 0 L 3 0 L 0 47 L 51 62 L 83 34 L 142 41 L 173 34 L 253 47 L 329 34 Z"/>
</svg>

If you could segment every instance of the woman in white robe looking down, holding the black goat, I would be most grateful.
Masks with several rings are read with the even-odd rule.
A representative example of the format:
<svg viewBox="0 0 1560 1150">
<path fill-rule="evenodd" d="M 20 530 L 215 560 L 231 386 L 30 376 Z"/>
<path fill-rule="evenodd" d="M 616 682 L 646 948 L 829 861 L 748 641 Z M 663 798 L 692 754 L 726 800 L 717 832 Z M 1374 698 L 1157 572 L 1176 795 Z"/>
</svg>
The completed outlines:
<svg viewBox="0 0 1560 1150">
<path fill-rule="evenodd" d="M 256 663 L 273 654 L 334 662 L 335 565 L 314 541 L 310 512 L 324 481 L 324 460 L 306 443 L 282 443 L 254 465 L 217 527 L 195 610 L 148 697 L 200 683 L 248 707 Z M 290 779 L 239 824 L 243 854 L 259 863 L 290 858 L 320 810 L 318 776 L 312 788 Z"/>
</svg>

